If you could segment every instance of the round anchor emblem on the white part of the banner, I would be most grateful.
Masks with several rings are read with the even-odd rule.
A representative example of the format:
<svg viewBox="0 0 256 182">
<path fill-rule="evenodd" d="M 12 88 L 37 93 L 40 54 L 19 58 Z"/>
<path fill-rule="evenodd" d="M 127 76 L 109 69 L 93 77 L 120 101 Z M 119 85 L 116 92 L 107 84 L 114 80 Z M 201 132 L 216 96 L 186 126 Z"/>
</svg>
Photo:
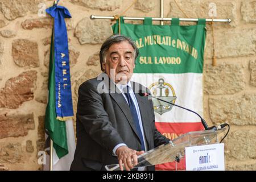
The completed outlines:
<svg viewBox="0 0 256 182">
<path fill-rule="evenodd" d="M 150 89 L 150 92 L 153 96 L 160 98 L 162 100 L 166 100 L 169 102 L 172 102 L 175 104 L 176 95 L 174 92 L 174 88 L 167 82 L 164 82 L 163 78 L 160 78 L 158 82 L 155 82 L 151 84 L 148 89 Z M 170 96 L 172 94 L 172 96 Z M 154 104 L 154 110 L 156 113 L 162 115 L 163 113 L 166 113 L 172 109 L 171 104 L 167 104 L 166 102 L 162 102 L 159 100 L 152 100 Z"/>
</svg>

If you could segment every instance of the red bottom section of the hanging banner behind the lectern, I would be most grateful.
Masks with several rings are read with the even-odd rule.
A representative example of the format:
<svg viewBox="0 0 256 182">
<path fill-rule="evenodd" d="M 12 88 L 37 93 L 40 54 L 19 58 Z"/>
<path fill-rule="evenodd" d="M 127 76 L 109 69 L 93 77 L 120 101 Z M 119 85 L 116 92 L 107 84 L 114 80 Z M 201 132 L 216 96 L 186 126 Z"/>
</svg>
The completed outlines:
<svg viewBox="0 0 256 182">
<path fill-rule="evenodd" d="M 170 123 L 170 122 L 155 122 L 156 129 L 169 139 L 175 139 L 180 135 L 188 133 L 189 131 L 204 130 L 201 122 L 184 122 L 184 123 Z M 175 170 L 175 162 L 164 163 L 155 166 L 156 170 Z M 185 158 L 177 163 L 177 169 L 185 169 Z"/>
</svg>

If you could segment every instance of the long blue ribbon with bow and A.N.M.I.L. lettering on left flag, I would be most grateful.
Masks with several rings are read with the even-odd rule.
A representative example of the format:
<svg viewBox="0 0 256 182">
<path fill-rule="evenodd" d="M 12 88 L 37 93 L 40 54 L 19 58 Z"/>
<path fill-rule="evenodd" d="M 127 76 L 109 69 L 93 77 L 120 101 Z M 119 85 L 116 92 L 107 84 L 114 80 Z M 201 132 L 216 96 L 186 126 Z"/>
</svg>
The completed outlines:
<svg viewBox="0 0 256 182">
<path fill-rule="evenodd" d="M 56 114 L 57 119 L 65 121 L 73 117 L 68 35 L 65 24 L 65 18 L 71 18 L 71 14 L 65 7 L 57 5 L 49 7 L 46 12 L 54 18 Z"/>
</svg>

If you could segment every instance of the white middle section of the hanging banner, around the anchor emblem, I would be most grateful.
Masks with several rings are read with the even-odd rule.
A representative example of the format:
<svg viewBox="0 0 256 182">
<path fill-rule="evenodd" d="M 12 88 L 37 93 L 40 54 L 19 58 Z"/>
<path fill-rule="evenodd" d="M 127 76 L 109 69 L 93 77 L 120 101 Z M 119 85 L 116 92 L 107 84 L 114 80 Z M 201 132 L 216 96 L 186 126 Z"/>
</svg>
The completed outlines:
<svg viewBox="0 0 256 182">
<path fill-rule="evenodd" d="M 134 73 L 132 81 L 141 83 L 147 88 L 154 82 L 163 78 L 164 82 L 170 84 L 176 95 L 175 104 L 196 111 L 203 117 L 203 84 L 201 73 Z M 172 93 L 170 93 L 172 96 Z M 200 118 L 187 110 L 172 107 L 171 111 L 162 115 L 155 112 L 156 122 L 200 122 Z"/>
</svg>

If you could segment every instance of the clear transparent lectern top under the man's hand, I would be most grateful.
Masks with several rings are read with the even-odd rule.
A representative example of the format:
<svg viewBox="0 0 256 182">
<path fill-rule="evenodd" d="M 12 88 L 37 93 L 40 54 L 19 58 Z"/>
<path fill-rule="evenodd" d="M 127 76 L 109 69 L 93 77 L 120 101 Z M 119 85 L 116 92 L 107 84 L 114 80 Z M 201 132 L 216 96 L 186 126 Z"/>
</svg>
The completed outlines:
<svg viewBox="0 0 256 182">
<path fill-rule="evenodd" d="M 218 143 L 218 136 L 223 131 L 225 131 L 225 129 L 191 131 L 181 135 L 180 137 L 171 140 L 169 143 L 162 144 L 159 147 L 139 155 L 138 165 L 134 168 L 177 161 L 184 157 L 185 147 Z M 105 168 L 108 171 L 120 170 L 119 164 L 106 165 Z M 125 169 L 124 166 L 123 168 Z"/>
</svg>

